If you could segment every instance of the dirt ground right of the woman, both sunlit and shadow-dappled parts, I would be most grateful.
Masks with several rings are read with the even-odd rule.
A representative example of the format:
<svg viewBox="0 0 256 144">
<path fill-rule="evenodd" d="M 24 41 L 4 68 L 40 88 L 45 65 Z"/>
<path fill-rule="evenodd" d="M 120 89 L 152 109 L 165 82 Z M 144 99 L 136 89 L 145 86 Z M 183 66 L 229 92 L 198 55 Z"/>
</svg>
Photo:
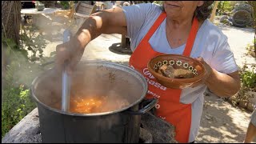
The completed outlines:
<svg viewBox="0 0 256 144">
<path fill-rule="evenodd" d="M 254 39 L 253 29 L 221 24 L 218 27 L 228 37 L 230 49 L 234 53 L 238 66 L 242 66 L 245 62 L 247 64 L 256 63 L 255 58 L 246 55 L 247 50 L 245 48 Z M 234 107 L 209 91 L 206 91 L 205 94 L 205 104 L 196 142 L 243 142 L 251 112 Z M 256 138 L 254 142 L 256 142 Z"/>
</svg>

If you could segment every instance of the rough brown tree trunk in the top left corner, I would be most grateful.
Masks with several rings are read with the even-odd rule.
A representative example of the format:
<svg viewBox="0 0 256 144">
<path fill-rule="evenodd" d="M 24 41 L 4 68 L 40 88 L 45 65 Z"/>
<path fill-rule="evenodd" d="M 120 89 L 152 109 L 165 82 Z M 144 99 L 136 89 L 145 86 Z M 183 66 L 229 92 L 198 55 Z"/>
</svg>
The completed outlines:
<svg viewBox="0 0 256 144">
<path fill-rule="evenodd" d="M 21 1 L 2 1 L 2 34 L 19 44 Z"/>
</svg>

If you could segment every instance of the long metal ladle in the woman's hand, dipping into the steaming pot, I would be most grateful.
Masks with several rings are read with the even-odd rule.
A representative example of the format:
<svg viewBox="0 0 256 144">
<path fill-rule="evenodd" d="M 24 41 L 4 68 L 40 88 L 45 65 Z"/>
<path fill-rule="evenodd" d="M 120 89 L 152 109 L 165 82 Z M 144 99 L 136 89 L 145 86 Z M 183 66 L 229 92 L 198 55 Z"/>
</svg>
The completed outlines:
<svg viewBox="0 0 256 144">
<path fill-rule="evenodd" d="M 63 33 L 63 42 L 70 40 L 70 31 L 65 30 Z M 62 71 L 62 111 L 68 112 L 70 110 L 70 76 L 66 72 L 67 61 L 64 62 L 64 69 Z"/>
</svg>

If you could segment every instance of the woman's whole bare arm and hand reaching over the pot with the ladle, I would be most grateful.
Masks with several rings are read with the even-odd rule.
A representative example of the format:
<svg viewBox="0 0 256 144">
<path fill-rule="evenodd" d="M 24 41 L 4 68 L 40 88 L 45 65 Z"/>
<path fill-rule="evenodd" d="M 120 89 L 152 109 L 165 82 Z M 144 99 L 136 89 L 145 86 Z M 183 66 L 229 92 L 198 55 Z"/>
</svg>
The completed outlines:
<svg viewBox="0 0 256 144">
<path fill-rule="evenodd" d="M 100 34 L 127 34 L 126 15 L 122 8 L 115 7 L 109 10 L 91 14 L 79 28 L 77 34 L 70 38 L 70 42 L 56 47 L 57 56 L 55 66 L 62 72 L 64 62 L 68 61 L 67 72 L 71 74 L 84 53 L 86 45 Z"/>
</svg>

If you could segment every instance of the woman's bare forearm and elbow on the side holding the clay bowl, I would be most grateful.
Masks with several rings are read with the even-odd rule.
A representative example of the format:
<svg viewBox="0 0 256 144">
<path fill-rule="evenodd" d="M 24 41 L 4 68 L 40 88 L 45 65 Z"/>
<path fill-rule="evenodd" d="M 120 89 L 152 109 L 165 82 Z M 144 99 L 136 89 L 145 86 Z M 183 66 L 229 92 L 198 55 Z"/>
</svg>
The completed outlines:
<svg viewBox="0 0 256 144">
<path fill-rule="evenodd" d="M 206 86 L 219 97 L 230 97 L 240 89 L 238 71 L 231 74 L 222 74 L 213 69 L 209 78 L 206 80 Z"/>
</svg>

